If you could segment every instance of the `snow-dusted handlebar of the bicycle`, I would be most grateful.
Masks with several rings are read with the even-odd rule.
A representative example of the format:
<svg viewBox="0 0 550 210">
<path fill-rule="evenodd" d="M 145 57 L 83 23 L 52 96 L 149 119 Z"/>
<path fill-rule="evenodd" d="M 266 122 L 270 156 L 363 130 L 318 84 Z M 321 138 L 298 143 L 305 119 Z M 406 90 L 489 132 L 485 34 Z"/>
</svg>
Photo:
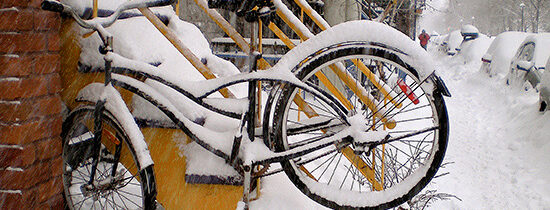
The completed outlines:
<svg viewBox="0 0 550 210">
<path fill-rule="evenodd" d="M 121 4 L 116 11 L 105 18 L 99 18 L 97 20 L 84 20 L 76 13 L 76 11 L 69 5 L 60 3 L 55 0 L 42 1 L 42 9 L 58 13 L 69 13 L 76 22 L 83 28 L 93 29 L 95 31 L 102 30 L 100 27 L 109 27 L 112 25 L 122 12 L 130 9 L 146 8 L 146 7 L 160 7 L 173 4 L 175 0 L 134 0 Z"/>
</svg>

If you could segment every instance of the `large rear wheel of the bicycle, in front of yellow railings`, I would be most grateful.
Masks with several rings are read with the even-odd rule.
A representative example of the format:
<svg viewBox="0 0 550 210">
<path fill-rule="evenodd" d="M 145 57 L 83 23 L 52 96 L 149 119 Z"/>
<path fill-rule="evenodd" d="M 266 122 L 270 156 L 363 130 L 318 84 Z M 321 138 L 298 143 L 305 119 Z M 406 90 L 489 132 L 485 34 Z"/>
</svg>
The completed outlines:
<svg viewBox="0 0 550 210">
<path fill-rule="evenodd" d="M 391 208 L 432 179 L 445 154 L 448 119 L 441 93 L 424 85 L 434 84 L 431 77 L 420 81 L 394 51 L 370 42 L 321 49 L 293 71 L 332 94 L 348 115 L 367 119 L 369 130 L 410 135 L 368 153 L 357 153 L 352 144 L 333 145 L 283 161 L 304 194 L 330 208 Z M 281 87 L 273 113 L 277 151 L 313 144 L 347 127 L 332 106 L 290 85 Z"/>
</svg>

